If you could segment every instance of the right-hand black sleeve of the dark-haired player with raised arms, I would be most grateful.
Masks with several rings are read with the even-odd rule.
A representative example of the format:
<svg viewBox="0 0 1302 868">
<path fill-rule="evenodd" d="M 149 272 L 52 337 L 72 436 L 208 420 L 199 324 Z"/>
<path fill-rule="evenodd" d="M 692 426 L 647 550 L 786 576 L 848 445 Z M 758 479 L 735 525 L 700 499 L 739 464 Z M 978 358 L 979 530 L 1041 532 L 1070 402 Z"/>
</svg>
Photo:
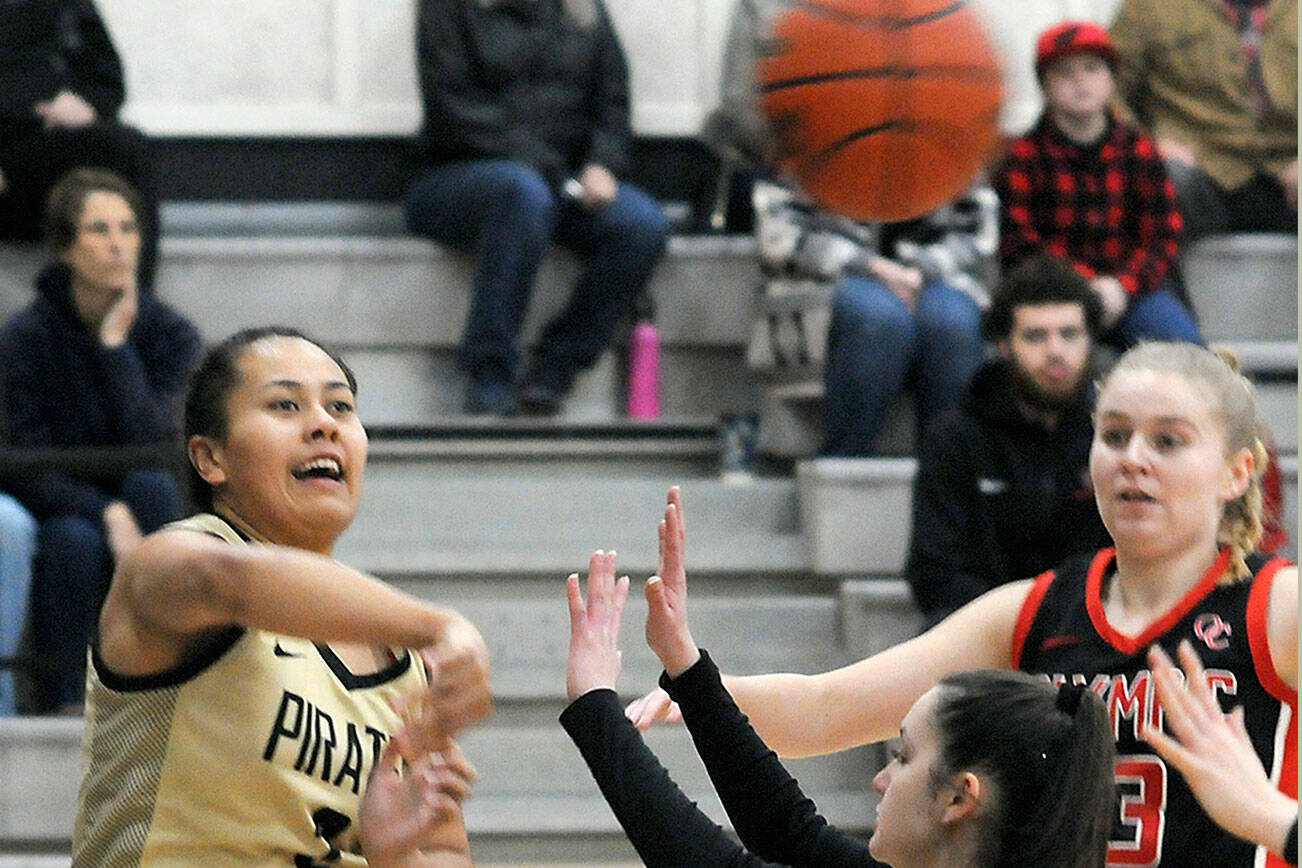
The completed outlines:
<svg viewBox="0 0 1302 868">
<path fill-rule="evenodd" d="M 881 864 L 867 843 L 818 813 L 737 708 L 710 655 L 702 651 L 691 669 L 672 679 L 663 675 L 660 686 L 682 709 L 697 752 L 747 848 L 786 865 Z"/>
</svg>

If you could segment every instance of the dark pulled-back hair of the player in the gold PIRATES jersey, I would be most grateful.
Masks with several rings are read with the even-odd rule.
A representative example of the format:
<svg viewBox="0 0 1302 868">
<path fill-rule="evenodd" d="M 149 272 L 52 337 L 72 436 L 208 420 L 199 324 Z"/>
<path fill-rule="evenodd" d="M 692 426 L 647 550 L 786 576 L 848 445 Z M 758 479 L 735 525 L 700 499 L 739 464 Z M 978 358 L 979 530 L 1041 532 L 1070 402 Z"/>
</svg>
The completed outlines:
<svg viewBox="0 0 1302 868">
<path fill-rule="evenodd" d="M 307 341 L 328 355 L 348 381 L 348 388 L 357 394 L 357 377 L 348 363 L 318 341 L 296 328 L 286 325 L 263 325 L 246 328 L 208 347 L 199 366 L 190 375 L 190 387 L 185 396 L 185 422 L 182 433 L 186 442 L 199 435 L 214 440 L 227 436 L 227 397 L 240 380 L 238 362 L 254 344 L 271 337 L 290 337 Z M 190 466 L 190 496 L 203 510 L 212 509 L 212 488 L 199 472 Z"/>
</svg>

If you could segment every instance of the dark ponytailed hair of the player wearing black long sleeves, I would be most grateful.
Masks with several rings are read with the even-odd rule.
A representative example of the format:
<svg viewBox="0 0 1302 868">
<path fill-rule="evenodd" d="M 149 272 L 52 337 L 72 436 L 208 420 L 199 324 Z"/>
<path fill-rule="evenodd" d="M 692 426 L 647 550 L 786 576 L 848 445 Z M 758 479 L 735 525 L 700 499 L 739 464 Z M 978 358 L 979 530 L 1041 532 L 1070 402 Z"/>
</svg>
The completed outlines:
<svg viewBox="0 0 1302 868">
<path fill-rule="evenodd" d="M 1101 868 L 1116 793 L 1096 694 L 1023 673 L 958 673 L 940 682 L 935 726 L 937 783 L 973 772 L 992 793 L 976 864 Z"/>
</svg>

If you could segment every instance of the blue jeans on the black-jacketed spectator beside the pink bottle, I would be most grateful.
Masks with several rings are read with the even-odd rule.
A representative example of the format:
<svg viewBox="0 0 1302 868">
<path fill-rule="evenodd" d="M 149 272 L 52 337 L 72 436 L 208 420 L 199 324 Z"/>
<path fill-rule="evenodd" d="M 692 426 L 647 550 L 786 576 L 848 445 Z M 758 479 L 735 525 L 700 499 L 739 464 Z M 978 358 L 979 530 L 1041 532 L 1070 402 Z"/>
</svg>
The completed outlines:
<svg viewBox="0 0 1302 868">
<path fill-rule="evenodd" d="M 669 230 L 655 199 L 630 183 L 620 183 L 611 204 L 586 211 L 534 169 L 500 159 L 426 170 L 408 190 L 406 220 L 411 232 L 475 256 L 461 364 L 477 377 L 517 376 L 519 331 L 548 246 L 556 241 L 583 258 L 569 303 L 543 331 L 534 360 L 543 379 L 561 387 L 609 344 Z"/>
</svg>

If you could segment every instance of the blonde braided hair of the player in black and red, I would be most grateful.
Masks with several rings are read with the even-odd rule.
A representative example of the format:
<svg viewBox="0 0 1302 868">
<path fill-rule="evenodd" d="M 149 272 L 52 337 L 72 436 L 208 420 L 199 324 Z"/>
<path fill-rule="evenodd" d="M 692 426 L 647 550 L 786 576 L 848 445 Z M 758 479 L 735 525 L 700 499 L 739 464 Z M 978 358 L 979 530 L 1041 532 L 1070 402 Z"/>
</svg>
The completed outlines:
<svg viewBox="0 0 1302 868">
<path fill-rule="evenodd" d="M 1124 353 L 1099 383 L 1099 394 L 1118 372 L 1161 371 L 1176 373 L 1200 387 L 1212 398 L 1212 416 L 1225 436 L 1225 457 L 1247 449 L 1253 472 L 1242 495 L 1225 504 L 1217 543 L 1228 545 L 1229 569 L 1223 582 L 1251 576 L 1246 557 L 1262 539 L 1262 474 L 1266 471 L 1263 423 L 1256 414 L 1253 384 L 1238 371 L 1238 359 L 1226 347 L 1206 349 L 1197 344 L 1151 341 Z"/>
</svg>

